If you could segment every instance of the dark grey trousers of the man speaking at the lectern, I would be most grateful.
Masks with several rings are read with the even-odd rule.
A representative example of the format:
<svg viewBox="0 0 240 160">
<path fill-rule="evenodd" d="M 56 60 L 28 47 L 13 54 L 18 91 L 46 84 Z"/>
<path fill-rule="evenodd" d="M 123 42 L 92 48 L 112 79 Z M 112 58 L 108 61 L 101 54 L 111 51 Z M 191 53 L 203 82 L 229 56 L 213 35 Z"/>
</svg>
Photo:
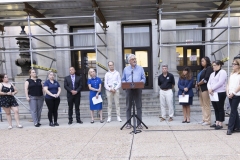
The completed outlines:
<svg viewBox="0 0 240 160">
<path fill-rule="evenodd" d="M 132 112 L 132 102 L 135 103 L 137 108 L 137 116 L 142 120 L 142 89 L 127 89 L 126 90 L 126 105 L 127 105 L 127 119 L 131 117 Z M 131 121 L 130 123 L 131 124 Z M 137 121 L 137 125 L 140 124 L 140 121 Z"/>
</svg>

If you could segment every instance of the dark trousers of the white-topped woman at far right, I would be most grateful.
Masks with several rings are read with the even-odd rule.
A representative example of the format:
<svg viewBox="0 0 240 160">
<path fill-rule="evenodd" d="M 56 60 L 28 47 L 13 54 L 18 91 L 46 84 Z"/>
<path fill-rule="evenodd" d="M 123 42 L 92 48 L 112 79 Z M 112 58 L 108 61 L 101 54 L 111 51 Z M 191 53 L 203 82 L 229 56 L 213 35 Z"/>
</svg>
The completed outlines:
<svg viewBox="0 0 240 160">
<path fill-rule="evenodd" d="M 228 129 L 233 131 L 236 128 L 240 128 L 239 126 L 239 115 L 238 115 L 238 104 L 240 102 L 240 96 L 233 96 L 232 99 L 229 99 L 229 103 L 231 106 L 231 113 L 228 122 Z"/>
</svg>

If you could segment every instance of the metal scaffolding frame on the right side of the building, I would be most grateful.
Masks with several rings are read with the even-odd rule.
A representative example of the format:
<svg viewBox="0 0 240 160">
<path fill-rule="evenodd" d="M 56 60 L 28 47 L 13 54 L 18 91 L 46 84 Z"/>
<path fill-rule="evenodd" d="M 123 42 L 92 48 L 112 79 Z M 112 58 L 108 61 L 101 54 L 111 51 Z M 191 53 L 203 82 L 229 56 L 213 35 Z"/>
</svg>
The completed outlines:
<svg viewBox="0 0 240 160">
<path fill-rule="evenodd" d="M 177 47 L 177 46 L 206 46 L 206 45 L 221 45 L 221 47 L 211 53 L 211 55 L 216 60 L 215 54 L 225 47 L 227 47 L 227 57 L 223 57 L 223 60 L 227 61 L 227 73 L 229 75 L 230 71 L 230 63 L 229 63 L 229 56 L 230 56 L 230 45 L 238 45 L 240 44 L 240 41 L 231 41 L 230 40 L 230 30 L 231 29 L 239 29 L 240 26 L 230 26 L 230 18 L 231 18 L 231 11 L 240 11 L 240 9 L 235 8 L 231 9 L 230 6 L 225 10 L 202 10 L 202 11 L 180 11 L 180 12 L 163 12 L 162 9 L 158 10 L 158 45 L 159 45 L 159 51 L 158 51 L 158 58 L 159 58 L 159 65 L 158 65 L 158 71 L 160 70 L 160 66 L 162 63 L 162 47 Z M 223 15 L 218 19 L 217 22 L 213 23 L 211 22 L 211 27 L 193 27 L 193 28 L 175 28 L 175 29 L 163 29 L 162 28 L 162 16 L 163 15 L 178 15 L 178 14 L 189 14 L 189 13 L 215 13 L 215 12 L 222 12 Z M 219 26 L 217 27 L 217 24 L 225 17 L 228 18 L 228 25 L 227 26 Z M 182 31 L 182 30 L 211 30 L 213 33 L 213 30 L 216 29 L 222 29 L 222 31 L 215 37 L 211 35 L 210 41 L 198 41 L 198 42 L 191 42 L 191 44 L 186 44 L 186 42 L 169 42 L 169 43 L 162 43 L 162 33 L 163 32 L 169 32 L 169 31 Z M 217 41 L 217 39 L 227 31 L 227 40 L 224 41 Z"/>
</svg>

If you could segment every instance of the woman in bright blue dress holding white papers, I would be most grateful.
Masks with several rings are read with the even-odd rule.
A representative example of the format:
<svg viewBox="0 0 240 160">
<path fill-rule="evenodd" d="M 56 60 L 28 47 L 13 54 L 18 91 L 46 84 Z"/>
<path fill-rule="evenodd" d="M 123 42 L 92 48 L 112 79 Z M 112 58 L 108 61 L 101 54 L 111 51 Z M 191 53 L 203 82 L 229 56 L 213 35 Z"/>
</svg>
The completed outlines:
<svg viewBox="0 0 240 160">
<path fill-rule="evenodd" d="M 100 114 L 100 122 L 103 123 L 102 120 L 102 102 L 93 104 L 92 98 L 96 97 L 98 99 L 99 95 L 101 95 L 101 87 L 102 87 L 102 81 L 99 77 L 96 77 L 96 72 L 93 68 L 90 68 L 88 71 L 89 79 L 88 79 L 88 88 L 90 90 L 89 94 L 89 101 L 90 101 L 90 110 L 91 110 L 91 117 L 92 121 L 91 123 L 94 123 L 94 110 L 99 110 Z"/>
</svg>

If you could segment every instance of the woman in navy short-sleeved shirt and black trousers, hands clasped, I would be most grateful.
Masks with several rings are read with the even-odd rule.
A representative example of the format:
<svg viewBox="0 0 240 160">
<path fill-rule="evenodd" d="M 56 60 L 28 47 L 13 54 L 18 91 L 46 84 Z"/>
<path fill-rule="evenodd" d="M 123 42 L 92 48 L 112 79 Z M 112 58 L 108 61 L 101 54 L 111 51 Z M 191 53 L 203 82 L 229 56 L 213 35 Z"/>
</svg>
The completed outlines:
<svg viewBox="0 0 240 160">
<path fill-rule="evenodd" d="M 48 80 L 44 82 L 44 91 L 46 93 L 45 102 L 48 107 L 49 126 L 59 126 L 57 123 L 57 118 L 58 106 L 60 104 L 59 95 L 61 93 L 61 88 L 59 83 L 54 79 L 54 73 L 51 70 L 48 71 Z M 52 117 L 54 117 L 54 123 Z"/>
</svg>

